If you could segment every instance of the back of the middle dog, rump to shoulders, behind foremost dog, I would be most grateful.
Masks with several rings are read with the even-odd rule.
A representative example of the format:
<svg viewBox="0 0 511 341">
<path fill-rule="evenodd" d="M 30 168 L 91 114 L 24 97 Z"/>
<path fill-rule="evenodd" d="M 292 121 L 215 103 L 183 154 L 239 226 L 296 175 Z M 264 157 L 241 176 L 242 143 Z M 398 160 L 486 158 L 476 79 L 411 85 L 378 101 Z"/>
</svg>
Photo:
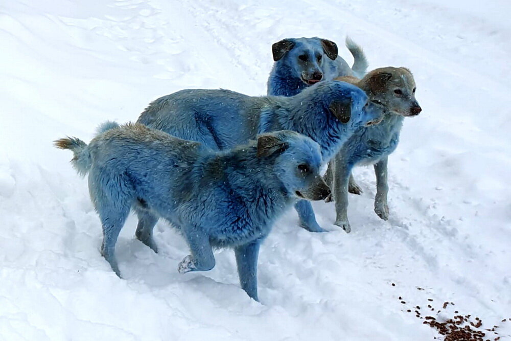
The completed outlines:
<svg viewBox="0 0 511 341">
<path fill-rule="evenodd" d="M 222 150 L 255 137 L 264 101 L 224 89 L 187 89 L 153 101 L 137 122 Z"/>
</svg>

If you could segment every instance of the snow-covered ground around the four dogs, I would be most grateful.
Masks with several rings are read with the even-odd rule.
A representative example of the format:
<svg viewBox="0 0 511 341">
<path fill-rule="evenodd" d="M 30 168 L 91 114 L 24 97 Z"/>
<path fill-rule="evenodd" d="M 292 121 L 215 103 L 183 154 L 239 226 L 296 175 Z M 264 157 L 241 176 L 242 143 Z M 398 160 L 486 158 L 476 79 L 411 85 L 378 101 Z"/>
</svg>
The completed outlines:
<svg viewBox="0 0 511 341">
<path fill-rule="evenodd" d="M 441 310 L 437 319 L 472 314 L 511 338 L 501 322 L 511 317 L 510 13 L 506 0 L 2 2 L 0 340 L 438 337 L 415 306 Z M 274 226 L 261 303 L 240 288 L 228 250 L 212 271 L 178 274 L 188 249 L 164 222 L 156 255 L 129 218 L 116 277 L 86 181 L 52 141 L 88 141 L 99 123 L 134 121 L 182 88 L 262 95 L 271 43 L 320 36 L 351 62 L 346 34 L 370 69 L 409 67 L 423 107 L 390 157 L 389 221 L 373 212 L 372 168 L 359 168 L 351 234 L 323 202 L 314 207 L 330 233 L 299 229 L 292 211 Z"/>
</svg>

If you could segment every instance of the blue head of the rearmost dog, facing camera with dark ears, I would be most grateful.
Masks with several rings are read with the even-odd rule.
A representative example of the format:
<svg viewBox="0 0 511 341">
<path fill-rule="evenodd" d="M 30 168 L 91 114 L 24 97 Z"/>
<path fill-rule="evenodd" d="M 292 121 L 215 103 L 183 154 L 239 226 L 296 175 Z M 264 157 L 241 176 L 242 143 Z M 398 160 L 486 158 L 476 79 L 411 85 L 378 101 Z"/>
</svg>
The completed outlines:
<svg viewBox="0 0 511 341">
<path fill-rule="evenodd" d="M 291 76 L 312 85 L 323 79 L 326 59 L 335 60 L 338 49 L 335 42 L 314 37 L 283 39 L 274 43 L 271 51 L 273 60 L 285 64 Z"/>
</svg>

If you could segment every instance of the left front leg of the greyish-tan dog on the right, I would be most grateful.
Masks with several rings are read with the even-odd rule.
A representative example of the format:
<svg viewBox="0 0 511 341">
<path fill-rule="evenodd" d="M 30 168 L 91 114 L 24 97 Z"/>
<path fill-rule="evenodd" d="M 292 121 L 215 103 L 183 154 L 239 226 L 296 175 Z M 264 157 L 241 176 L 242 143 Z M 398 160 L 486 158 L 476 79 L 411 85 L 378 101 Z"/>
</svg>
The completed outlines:
<svg viewBox="0 0 511 341">
<path fill-rule="evenodd" d="M 335 224 L 340 226 L 346 233 L 351 232 L 348 220 L 348 184 L 351 174 L 349 165 L 345 163 L 345 157 L 338 153 L 335 156 L 334 167 L 334 199 L 335 199 Z"/>
</svg>

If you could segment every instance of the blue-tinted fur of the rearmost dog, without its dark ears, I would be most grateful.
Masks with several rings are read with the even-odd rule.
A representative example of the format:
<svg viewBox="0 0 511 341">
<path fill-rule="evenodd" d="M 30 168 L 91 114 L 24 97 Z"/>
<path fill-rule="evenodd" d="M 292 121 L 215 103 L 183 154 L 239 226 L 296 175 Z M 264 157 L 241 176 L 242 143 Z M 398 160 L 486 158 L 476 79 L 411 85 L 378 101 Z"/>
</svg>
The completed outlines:
<svg viewBox="0 0 511 341">
<path fill-rule="evenodd" d="M 268 78 L 268 95 L 294 96 L 310 86 L 304 79 L 311 78 L 314 73 L 321 73 L 321 80 L 331 80 L 340 76 L 362 77 L 367 69 L 362 49 L 351 39 L 346 39 L 346 46 L 355 57 L 353 70 L 340 56 L 335 60 L 330 59 L 323 51 L 318 37 L 286 40 L 294 42 L 294 46 L 273 64 Z M 307 56 L 306 61 L 298 58 L 304 55 Z M 321 56 L 320 61 L 317 60 L 318 56 Z"/>
</svg>

